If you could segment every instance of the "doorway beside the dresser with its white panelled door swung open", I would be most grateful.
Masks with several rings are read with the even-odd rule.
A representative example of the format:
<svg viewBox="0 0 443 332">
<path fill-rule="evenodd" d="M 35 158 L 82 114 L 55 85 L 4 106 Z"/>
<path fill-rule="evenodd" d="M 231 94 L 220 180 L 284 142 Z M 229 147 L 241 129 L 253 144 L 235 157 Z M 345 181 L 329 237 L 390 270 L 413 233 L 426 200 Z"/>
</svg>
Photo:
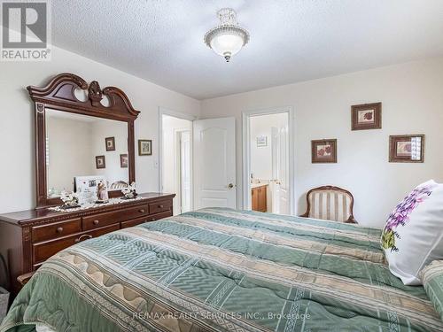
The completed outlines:
<svg viewBox="0 0 443 332">
<path fill-rule="evenodd" d="M 236 208 L 236 120 L 196 120 L 159 108 L 159 192 L 174 193 L 174 214 Z"/>
</svg>

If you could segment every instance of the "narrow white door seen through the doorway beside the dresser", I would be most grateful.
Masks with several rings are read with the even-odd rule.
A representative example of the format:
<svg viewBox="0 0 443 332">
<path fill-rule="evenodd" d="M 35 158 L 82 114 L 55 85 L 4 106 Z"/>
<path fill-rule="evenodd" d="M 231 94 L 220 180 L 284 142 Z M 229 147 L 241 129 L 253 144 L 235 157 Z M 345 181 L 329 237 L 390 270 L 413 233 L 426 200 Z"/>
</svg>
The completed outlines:
<svg viewBox="0 0 443 332">
<path fill-rule="evenodd" d="M 182 213 L 191 210 L 190 206 L 190 131 L 180 136 L 180 187 Z"/>
</svg>

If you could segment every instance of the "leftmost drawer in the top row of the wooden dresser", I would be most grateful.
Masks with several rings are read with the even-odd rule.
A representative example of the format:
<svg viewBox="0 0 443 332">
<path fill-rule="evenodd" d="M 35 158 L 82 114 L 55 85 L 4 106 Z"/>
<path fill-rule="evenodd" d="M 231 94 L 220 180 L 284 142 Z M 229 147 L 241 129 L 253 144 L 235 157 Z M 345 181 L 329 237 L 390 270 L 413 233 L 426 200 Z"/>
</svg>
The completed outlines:
<svg viewBox="0 0 443 332">
<path fill-rule="evenodd" d="M 82 219 L 76 218 L 35 226 L 32 228 L 32 242 L 41 242 L 53 238 L 71 235 L 82 231 Z"/>
</svg>

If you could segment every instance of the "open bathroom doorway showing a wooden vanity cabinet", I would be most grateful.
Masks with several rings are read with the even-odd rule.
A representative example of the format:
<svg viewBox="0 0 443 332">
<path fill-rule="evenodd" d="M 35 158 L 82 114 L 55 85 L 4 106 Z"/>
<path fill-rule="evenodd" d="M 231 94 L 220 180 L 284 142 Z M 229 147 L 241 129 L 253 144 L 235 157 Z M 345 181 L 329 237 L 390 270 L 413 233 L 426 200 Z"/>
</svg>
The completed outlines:
<svg viewBox="0 0 443 332">
<path fill-rule="evenodd" d="M 292 112 L 244 113 L 245 209 L 293 214 Z"/>
</svg>

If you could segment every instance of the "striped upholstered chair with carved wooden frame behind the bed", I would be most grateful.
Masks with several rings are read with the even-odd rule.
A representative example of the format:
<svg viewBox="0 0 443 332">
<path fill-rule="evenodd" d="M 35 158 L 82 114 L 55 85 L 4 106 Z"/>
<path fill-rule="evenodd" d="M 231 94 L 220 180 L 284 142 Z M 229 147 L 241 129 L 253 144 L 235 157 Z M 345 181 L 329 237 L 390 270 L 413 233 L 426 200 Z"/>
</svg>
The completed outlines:
<svg viewBox="0 0 443 332">
<path fill-rule="evenodd" d="M 323 186 L 307 191 L 307 211 L 300 217 L 356 224 L 354 197 L 346 189 Z"/>
</svg>

